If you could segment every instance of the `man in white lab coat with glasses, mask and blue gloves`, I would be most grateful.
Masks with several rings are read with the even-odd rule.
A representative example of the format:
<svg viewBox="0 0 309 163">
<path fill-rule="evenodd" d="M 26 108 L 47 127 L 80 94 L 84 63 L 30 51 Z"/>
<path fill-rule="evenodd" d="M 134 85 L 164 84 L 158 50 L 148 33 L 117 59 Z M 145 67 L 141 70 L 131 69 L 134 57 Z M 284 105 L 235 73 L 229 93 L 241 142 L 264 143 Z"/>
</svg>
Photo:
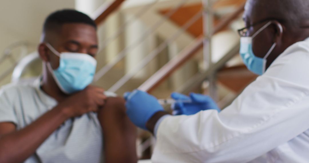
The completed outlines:
<svg viewBox="0 0 309 163">
<path fill-rule="evenodd" d="M 177 116 L 126 94 L 131 121 L 155 132 L 153 162 L 309 162 L 309 1 L 248 0 L 243 19 L 240 55 L 260 77 L 220 113 L 198 94 L 172 94 L 193 101 L 177 102 Z"/>
</svg>

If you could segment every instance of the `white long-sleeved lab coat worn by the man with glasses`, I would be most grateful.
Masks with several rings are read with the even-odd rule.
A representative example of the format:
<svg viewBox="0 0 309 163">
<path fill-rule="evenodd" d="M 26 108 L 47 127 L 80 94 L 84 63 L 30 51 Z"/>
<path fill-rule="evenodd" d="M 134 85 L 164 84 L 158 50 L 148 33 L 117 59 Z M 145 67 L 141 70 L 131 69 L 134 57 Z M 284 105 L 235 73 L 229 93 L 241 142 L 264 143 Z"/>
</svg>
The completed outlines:
<svg viewBox="0 0 309 163">
<path fill-rule="evenodd" d="M 309 162 L 309 39 L 290 46 L 222 112 L 169 116 L 154 163 Z"/>
</svg>

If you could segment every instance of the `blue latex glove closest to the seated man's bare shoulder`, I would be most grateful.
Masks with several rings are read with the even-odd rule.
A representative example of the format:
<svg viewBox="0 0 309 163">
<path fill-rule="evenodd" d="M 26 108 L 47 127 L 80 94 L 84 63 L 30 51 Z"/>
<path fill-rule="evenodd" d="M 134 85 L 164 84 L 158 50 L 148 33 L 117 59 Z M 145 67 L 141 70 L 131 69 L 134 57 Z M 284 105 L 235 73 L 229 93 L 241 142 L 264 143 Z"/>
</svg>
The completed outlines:
<svg viewBox="0 0 309 163">
<path fill-rule="evenodd" d="M 163 107 L 158 100 L 146 92 L 134 90 L 124 94 L 127 101 L 127 115 L 138 127 L 146 130 L 146 123 L 158 111 L 163 111 Z"/>
</svg>

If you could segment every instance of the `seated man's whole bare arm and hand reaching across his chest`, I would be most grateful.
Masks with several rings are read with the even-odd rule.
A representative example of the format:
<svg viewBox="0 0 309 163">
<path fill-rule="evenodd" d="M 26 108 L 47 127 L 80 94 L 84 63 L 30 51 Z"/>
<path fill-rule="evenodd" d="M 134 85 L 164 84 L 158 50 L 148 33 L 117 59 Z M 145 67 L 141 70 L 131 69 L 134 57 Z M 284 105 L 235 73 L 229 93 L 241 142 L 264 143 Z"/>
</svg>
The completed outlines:
<svg viewBox="0 0 309 163">
<path fill-rule="evenodd" d="M 18 131 L 13 123 L 1 123 L 0 162 L 24 162 L 68 118 L 98 111 L 106 98 L 103 92 L 101 88 L 88 86 Z"/>
</svg>

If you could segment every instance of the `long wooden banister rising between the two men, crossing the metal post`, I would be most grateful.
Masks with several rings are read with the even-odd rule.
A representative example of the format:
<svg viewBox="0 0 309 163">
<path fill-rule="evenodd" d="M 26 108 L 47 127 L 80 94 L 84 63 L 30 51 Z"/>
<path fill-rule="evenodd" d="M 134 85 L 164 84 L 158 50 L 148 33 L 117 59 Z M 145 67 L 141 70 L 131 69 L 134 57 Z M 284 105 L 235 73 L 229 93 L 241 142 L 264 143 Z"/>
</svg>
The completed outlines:
<svg viewBox="0 0 309 163">
<path fill-rule="evenodd" d="M 221 31 L 226 26 L 228 26 L 233 20 L 238 18 L 238 16 L 244 10 L 244 3 L 239 6 L 239 8 L 231 15 L 223 18 L 220 23 L 215 27 L 213 34 Z M 174 71 L 176 71 L 180 66 L 186 63 L 195 53 L 203 47 L 203 36 L 198 37 L 195 43 L 188 48 L 185 48 L 180 52 L 179 55 L 171 59 L 167 64 L 165 64 L 159 71 L 157 71 L 153 76 L 151 76 L 147 81 L 145 81 L 138 89 L 150 93 L 154 90 L 161 82 L 167 79 Z"/>
</svg>

